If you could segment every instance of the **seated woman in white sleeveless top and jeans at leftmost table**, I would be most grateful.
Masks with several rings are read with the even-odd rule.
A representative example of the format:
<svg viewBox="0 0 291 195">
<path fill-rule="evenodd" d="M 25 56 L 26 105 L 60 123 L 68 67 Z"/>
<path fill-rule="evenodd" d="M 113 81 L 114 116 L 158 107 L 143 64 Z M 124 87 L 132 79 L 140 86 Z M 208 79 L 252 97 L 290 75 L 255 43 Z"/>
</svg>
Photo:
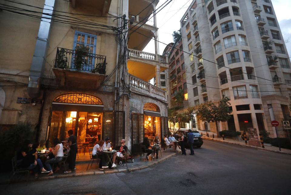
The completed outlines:
<svg viewBox="0 0 291 195">
<path fill-rule="evenodd" d="M 49 170 L 48 175 L 52 175 L 54 173 L 54 172 L 52 172 L 52 166 L 50 164 L 61 162 L 63 160 L 62 157 L 64 156 L 64 151 L 63 151 L 64 148 L 63 148 L 63 144 L 60 142 L 60 140 L 58 138 L 55 138 L 53 141 L 53 144 L 55 146 L 55 149 L 50 148 L 50 151 L 52 152 L 52 154 L 55 157 L 45 161 L 45 166 Z M 57 170 L 59 170 L 59 167 L 57 167 Z"/>
</svg>

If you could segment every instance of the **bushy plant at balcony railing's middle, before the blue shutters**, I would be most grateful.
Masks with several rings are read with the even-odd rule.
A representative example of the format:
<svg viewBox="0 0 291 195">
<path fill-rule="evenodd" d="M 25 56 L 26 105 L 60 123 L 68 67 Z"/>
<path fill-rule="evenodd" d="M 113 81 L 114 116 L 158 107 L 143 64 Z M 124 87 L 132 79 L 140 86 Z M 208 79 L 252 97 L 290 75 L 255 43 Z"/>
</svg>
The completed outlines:
<svg viewBox="0 0 291 195">
<path fill-rule="evenodd" d="M 88 62 L 89 49 L 84 45 L 78 45 L 75 47 L 74 65 L 77 71 L 80 71 L 84 64 Z"/>
</svg>

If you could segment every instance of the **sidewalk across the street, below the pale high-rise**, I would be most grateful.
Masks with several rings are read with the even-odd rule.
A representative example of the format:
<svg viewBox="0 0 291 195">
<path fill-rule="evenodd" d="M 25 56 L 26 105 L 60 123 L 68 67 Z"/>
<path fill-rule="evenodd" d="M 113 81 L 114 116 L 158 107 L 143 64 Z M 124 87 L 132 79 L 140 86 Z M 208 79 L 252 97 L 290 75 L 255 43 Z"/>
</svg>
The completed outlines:
<svg viewBox="0 0 291 195">
<path fill-rule="evenodd" d="M 188 129 L 183 129 L 183 128 L 181 128 L 181 129 L 188 130 Z M 257 147 L 257 146 L 246 145 L 244 140 L 233 140 L 233 139 L 228 139 L 228 138 L 225 138 L 223 140 L 222 137 L 217 137 L 217 133 L 213 133 L 210 131 L 206 132 L 206 131 L 199 130 L 199 132 L 202 133 L 203 139 L 206 139 L 206 140 L 220 141 L 220 142 L 229 143 L 229 144 L 241 145 L 244 147 L 253 147 L 253 148 L 260 149 L 260 150 L 266 150 L 266 151 L 276 152 L 276 153 L 280 153 L 280 154 L 291 155 L 291 150 L 286 149 L 286 148 L 281 148 L 281 151 L 280 151 L 279 147 L 271 146 L 271 144 L 264 144 L 265 148 L 262 148 L 262 147 Z M 209 137 L 206 136 L 207 133 L 209 134 Z M 213 135 L 214 135 L 214 138 L 213 138 Z"/>
</svg>

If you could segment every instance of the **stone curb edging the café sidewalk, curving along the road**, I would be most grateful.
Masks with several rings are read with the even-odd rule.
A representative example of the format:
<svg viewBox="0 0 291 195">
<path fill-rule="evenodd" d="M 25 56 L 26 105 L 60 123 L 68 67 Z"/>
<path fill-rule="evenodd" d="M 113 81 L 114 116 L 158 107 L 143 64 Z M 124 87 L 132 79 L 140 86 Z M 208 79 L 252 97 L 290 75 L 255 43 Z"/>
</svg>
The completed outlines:
<svg viewBox="0 0 291 195">
<path fill-rule="evenodd" d="M 158 163 L 161 163 L 165 160 L 170 159 L 171 157 L 177 155 L 178 153 L 172 153 L 167 157 L 161 157 L 158 160 L 155 160 L 155 162 L 150 162 L 147 165 L 142 165 L 140 167 L 133 167 L 133 168 L 122 168 L 122 169 L 110 169 L 110 170 L 105 170 L 105 171 L 86 171 L 86 172 L 79 172 L 79 173 L 74 173 L 74 174 L 63 174 L 63 175 L 56 175 L 56 176 L 47 176 L 47 177 L 39 177 L 37 179 L 32 179 L 29 178 L 28 182 L 31 181 L 44 181 L 44 180 L 52 180 L 52 179 L 60 179 L 60 178 L 65 178 L 65 177 L 79 177 L 79 176 L 89 176 L 89 175 L 100 175 L 100 174 L 113 174 L 113 173 L 121 173 L 121 172 L 132 172 L 136 170 L 142 170 L 146 169 L 152 166 L 155 166 Z M 21 180 L 7 180 L 7 181 L 2 181 L 0 184 L 7 184 L 7 183 L 19 183 L 19 182 L 26 182 L 26 179 L 21 179 Z"/>
</svg>

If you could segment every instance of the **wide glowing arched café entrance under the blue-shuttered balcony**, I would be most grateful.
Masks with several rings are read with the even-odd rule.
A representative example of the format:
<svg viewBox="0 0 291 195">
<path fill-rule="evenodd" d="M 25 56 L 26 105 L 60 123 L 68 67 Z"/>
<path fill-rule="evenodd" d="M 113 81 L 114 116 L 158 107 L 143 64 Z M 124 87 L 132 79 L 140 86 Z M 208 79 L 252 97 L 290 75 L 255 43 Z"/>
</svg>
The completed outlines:
<svg viewBox="0 0 291 195">
<path fill-rule="evenodd" d="M 104 123 L 103 107 L 101 99 L 90 94 L 66 93 L 57 96 L 52 102 L 49 140 L 52 142 L 59 138 L 64 141 L 67 131 L 71 129 L 77 136 L 78 144 L 100 140 L 104 134 L 103 126 L 113 124 L 113 120 Z"/>
</svg>

